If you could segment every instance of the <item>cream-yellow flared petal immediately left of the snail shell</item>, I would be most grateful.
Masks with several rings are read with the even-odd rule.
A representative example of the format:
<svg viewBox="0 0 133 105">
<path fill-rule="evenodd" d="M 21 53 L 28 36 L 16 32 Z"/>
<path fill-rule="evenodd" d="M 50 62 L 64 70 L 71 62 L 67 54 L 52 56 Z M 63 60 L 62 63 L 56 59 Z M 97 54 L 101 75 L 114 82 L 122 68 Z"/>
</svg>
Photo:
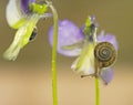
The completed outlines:
<svg viewBox="0 0 133 105">
<path fill-rule="evenodd" d="M 73 71 L 82 72 L 85 75 L 94 73 L 94 45 L 92 43 L 85 43 L 83 45 L 81 55 L 72 64 Z"/>
</svg>

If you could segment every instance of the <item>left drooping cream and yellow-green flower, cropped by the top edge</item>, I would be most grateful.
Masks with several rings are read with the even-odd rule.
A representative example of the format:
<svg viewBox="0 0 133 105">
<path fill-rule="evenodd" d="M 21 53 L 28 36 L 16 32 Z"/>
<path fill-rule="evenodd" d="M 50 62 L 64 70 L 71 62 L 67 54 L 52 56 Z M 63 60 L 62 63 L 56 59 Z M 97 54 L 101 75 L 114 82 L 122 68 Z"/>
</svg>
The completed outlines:
<svg viewBox="0 0 133 105">
<path fill-rule="evenodd" d="M 4 52 L 7 60 L 14 61 L 22 48 L 37 35 L 37 23 L 41 18 L 50 17 L 47 14 L 47 3 L 35 3 L 35 0 L 9 0 L 7 6 L 8 24 L 18 29 L 13 42 Z"/>
</svg>

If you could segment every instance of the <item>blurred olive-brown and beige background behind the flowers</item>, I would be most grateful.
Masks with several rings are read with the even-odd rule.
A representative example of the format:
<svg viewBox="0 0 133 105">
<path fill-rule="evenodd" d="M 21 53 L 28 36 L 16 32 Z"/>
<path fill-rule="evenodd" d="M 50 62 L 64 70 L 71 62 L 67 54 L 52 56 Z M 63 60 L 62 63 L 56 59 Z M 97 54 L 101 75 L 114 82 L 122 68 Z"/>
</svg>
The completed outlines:
<svg viewBox="0 0 133 105">
<path fill-rule="evenodd" d="M 0 2 L 0 105 L 52 105 L 48 41 L 52 18 L 41 20 L 35 41 L 21 50 L 17 61 L 8 62 L 2 54 L 16 34 L 6 20 L 8 1 Z M 101 82 L 101 105 L 133 105 L 133 0 L 53 0 L 53 4 L 60 19 L 81 27 L 94 14 L 100 30 L 115 34 L 120 46 L 115 75 L 109 86 Z M 59 105 L 94 105 L 94 78 L 71 71 L 74 60 L 58 54 Z"/>
</svg>

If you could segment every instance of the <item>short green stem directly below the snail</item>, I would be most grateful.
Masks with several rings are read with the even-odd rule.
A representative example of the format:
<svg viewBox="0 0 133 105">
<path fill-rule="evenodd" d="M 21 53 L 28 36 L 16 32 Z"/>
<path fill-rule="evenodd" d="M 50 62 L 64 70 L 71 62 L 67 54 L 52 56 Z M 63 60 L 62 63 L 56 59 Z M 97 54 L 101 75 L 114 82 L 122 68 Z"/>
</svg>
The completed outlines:
<svg viewBox="0 0 133 105">
<path fill-rule="evenodd" d="M 95 76 L 95 105 L 100 105 L 100 87 L 98 76 Z"/>
</svg>

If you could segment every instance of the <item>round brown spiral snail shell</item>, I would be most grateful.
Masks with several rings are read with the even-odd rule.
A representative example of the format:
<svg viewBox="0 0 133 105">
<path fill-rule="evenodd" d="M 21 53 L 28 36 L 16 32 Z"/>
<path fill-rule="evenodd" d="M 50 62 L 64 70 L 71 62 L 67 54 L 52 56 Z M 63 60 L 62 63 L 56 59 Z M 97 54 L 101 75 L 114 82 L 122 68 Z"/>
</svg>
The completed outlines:
<svg viewBox="0 0 133 105">
<path fill-rule="evenodd" d="M 94 49 L 94 56 L 100 67 L 109 67 L 116 60 L 116 50 L 110 42 L 101 42 Z"/>
</svg>

